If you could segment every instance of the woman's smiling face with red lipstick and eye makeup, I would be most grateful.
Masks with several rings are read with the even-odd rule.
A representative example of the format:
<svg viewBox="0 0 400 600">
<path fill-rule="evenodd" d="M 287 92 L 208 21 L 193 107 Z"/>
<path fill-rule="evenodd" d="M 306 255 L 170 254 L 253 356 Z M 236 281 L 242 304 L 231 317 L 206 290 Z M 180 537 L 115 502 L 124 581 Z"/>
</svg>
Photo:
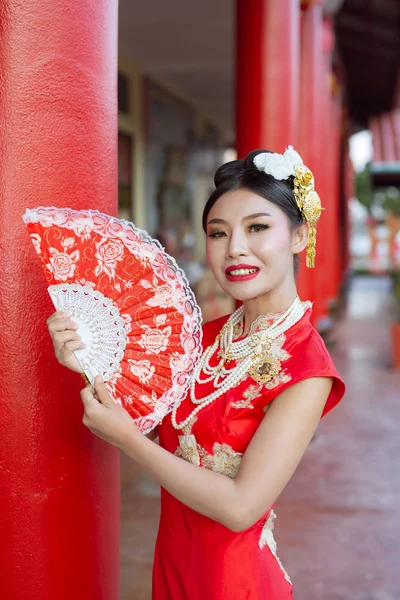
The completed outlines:
<svg viewBox="0 0 400 600">
<path fill-rule="evenodd" d="M 239 189 L 218 198 L 207 218 L 206 248 L 222 289 L 246 301 L 293 284 L 295 231 L 278 206 L 254 192 Z"/>
</svg>

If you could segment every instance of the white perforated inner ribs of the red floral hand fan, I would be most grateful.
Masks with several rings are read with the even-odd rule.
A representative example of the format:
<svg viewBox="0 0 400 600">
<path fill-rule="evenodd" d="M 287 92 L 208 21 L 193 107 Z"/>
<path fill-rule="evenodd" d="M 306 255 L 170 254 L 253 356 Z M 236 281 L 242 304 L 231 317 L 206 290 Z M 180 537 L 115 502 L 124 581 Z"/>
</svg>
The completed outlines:
<svg viewBox="0 0 400 600">
<path fill-rule="evenodd" d="M 67 283 L 48 289 L 57 310 L 70 313 L 79 325 L 86 348 L 75 350 L 85 375 L 93 385 L 96 375 L 108 381 L 118 370 L 126 346 L 124 321 L 113 302 L 90 287 Z"/>
</svg>

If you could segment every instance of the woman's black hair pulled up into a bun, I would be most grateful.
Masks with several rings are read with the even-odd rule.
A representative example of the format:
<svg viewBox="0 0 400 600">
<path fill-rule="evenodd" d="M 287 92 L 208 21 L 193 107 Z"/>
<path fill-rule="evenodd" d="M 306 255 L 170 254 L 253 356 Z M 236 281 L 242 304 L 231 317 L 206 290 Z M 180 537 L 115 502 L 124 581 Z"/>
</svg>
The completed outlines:
<svg viewBox="0 0 400 600">
<path fill-rule="evenodd" d="M 217 169 L 214 176 L 215 190 L 209 197 L 203 211 L 203 229 L 207 229 L 207 218 L 211 208 L 218 198 L 227 192 L 246 189 L 269 200 L 286 214 L 293 229 L 302 225 L 303 217 L 293 195 L 293 176 L 278 180 L 257 169 L 254 158 L 261 152 L 271 153 L 270 150 L 253 150 L 245 158 L 232 160 Z M 294 257 L 295 271 L 298 266 L 298 256 Z"/>
</svg>

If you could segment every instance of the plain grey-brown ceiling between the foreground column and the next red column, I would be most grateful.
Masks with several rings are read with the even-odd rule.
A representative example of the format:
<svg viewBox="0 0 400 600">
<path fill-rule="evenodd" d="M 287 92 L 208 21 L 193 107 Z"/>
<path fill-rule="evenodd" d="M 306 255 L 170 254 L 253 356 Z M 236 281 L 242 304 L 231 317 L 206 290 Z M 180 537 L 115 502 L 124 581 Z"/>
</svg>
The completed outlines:
<svg viewBox="0 0 400 600">
<path fill-rule="evenodd" d="M 228 131 L 234 121 L 234 0 L 120 0 L 120 51 Z"/>
</svg>

